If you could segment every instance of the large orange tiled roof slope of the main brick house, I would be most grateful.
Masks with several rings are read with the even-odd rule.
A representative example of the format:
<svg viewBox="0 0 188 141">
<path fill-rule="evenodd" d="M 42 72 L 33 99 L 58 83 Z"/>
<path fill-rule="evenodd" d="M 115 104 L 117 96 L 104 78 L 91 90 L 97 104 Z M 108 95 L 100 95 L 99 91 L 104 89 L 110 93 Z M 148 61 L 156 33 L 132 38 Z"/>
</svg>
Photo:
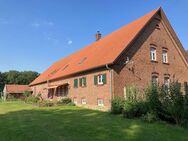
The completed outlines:
<svg viewBox="0 0 188 141">
<path fill-rule="evenodd" d="M 113 64 L 146 24 L 161 8 L 151 11 L 134 22 L 112 32 L 78 52 L 55 62 L 30 85 L 46 82 L 78 72 Z"/>
</svg>

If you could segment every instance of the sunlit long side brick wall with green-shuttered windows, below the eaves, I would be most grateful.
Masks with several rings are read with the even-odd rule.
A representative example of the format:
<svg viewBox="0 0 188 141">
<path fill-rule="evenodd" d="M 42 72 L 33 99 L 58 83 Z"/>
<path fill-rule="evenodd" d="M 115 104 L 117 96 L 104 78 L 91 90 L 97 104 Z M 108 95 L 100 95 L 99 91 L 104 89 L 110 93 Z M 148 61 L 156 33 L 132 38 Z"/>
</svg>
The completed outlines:
<svg viewBox="0 0 188 141">
<path fill-rule="evenodd" d="M 106 74 L 106 80 L 107 80 L 106 84 L 100 86 L 94 85 L 94 75 L 98 75 L 98 74 Z M 87 82 L 86 87 L 80 87 L 78 82 L 78 88 L 74 88 L 74 79 L 75 78 L 79 79 L 81 77 L 86 77 L 86 82 Z M 105 68 L 102 68 L 87 73 L 81 73 L 71 78 L 55 80 L 50 82 L 49 85 L 61 85 L 64 83 L 69 83 L 67 96 L 71 99 L 76 98 L 77 105 L 82 105 L 81 99 L 85 98 L 87 104 L 82 106 L 94 108 L 94 109 L 108 110 L 110 109 L 110 101 L 111 101 L 109 77 L 110 77 L 109 71 L 106 70 Z M 47 83 L 45 83 L 45 84 L 32 86 L 31 88 L 34 92 L 34 95 L 41 93 L 42 97 L 44 99 L 47 99 L 48 98 L 48 90 L 46 89 L 47 86 L 48 86 Z M 54 97 L 54 99 L 56 98 L 57 97 Z M 98 99 L 104 100 L 104 107 L 99 107 L 97 105 Z"/>
</svg>

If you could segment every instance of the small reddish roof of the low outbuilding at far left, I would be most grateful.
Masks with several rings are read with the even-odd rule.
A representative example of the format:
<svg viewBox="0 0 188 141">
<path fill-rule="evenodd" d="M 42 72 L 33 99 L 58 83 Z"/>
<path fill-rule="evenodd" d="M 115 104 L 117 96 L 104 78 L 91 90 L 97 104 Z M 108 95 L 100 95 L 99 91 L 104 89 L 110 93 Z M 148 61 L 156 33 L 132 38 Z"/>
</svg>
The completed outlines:
<svg viewBox="0 0 188 141">
<path fill-rule="evenodd" d="M 31 91 L 29 85 L 5 85 L 7 93 L 24 93 L 25 91 Z"/>
</svg>

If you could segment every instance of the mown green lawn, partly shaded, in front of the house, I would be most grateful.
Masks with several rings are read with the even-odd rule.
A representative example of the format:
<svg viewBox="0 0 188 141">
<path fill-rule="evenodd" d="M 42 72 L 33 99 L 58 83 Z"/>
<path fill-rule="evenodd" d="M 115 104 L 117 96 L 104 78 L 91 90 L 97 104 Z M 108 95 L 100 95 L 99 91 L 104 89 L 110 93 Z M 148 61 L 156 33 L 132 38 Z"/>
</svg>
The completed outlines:
<svg viewBox="0 0 188 141">
<path fill-rule="evenodd" d="M 188 129 L 78 107 L 0 103 L 0 141 L 188 141 Z"/>
</svg>

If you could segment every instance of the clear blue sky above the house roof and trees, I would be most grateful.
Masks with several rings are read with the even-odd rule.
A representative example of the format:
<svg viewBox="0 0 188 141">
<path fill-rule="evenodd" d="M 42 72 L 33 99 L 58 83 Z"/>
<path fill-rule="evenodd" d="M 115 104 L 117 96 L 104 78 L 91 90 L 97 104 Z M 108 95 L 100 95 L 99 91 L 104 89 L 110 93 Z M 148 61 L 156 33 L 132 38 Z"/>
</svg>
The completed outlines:
<svg viewBox="0 0 188 141">
<path fill-rule="evenodd" d="M 43 72 L 159 6 L 188 49 L 187 0 L 0 0 L 0 71 Z"/>
</svg>

